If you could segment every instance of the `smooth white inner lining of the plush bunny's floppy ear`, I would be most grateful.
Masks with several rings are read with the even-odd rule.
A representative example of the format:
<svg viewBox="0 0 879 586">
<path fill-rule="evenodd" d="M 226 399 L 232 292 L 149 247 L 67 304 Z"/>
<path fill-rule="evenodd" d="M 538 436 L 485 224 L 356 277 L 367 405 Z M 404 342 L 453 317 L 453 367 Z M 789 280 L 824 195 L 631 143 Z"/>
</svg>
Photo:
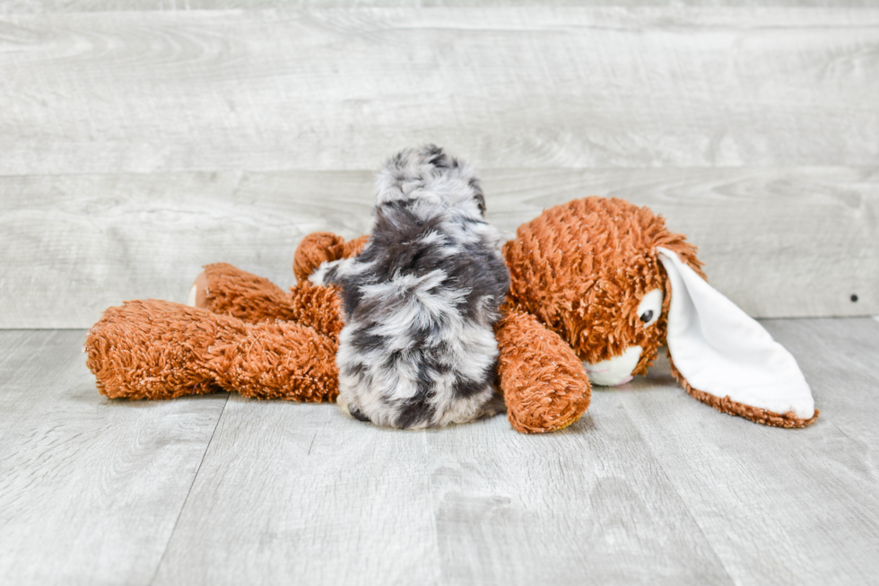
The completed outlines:
<svg viewBox="0 0 879 586">
<path fill-rule="evenodd" d="M 674 252 L 657 251 L 672 287 L 668 351 L 690 386 L 781 415 L 812 417 L 812 391 L 796 359 Z"/>
</svg>

